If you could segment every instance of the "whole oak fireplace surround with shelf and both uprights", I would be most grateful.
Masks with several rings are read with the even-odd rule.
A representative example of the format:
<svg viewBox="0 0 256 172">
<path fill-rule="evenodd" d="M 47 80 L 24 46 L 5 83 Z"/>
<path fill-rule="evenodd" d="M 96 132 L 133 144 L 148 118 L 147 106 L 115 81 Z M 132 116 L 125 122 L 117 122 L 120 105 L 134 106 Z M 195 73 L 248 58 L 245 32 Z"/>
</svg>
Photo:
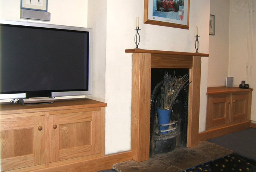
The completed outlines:
<svg viewBox="0 0 256 172">
<path fill-rule="evenodd" d="M 201 57 L 209 54 L 127 49 L 132 56 L 132 124 L 133 160 L 149 159 L 151 68 L 189 69 L 189 105 L 187 147 L 198 145 Z"/>
</svg>

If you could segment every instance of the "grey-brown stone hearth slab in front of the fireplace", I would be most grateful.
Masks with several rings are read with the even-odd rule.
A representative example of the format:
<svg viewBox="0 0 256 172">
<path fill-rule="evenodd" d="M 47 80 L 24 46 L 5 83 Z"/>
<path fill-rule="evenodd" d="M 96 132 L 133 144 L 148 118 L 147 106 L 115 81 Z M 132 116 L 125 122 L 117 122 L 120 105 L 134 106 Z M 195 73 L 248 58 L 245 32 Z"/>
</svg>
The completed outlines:
<svg viewBox="0 0 256 172">
<path fill-rule="evenodd" d="M 232 152 L 217 144 L 200 141 L 196 147 L 177 147 L 169 153 L 155 154 L 143 162 L 130 160 L 117 163 L 113 168 L 118 172 L 179 172 Z"/>
</svg>

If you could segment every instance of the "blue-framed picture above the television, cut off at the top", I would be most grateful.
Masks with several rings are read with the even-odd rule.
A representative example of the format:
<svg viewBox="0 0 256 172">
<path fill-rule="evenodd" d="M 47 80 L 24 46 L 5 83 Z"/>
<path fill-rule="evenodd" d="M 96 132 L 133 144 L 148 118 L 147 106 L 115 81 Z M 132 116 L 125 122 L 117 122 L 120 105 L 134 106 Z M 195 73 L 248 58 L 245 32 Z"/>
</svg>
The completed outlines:
<svg viewBox="0 0 256 172">
<path fill-rule="evenodd" d="M 21 9 L 47 11 L 48 0 L 21 0 Z"/>
</svg>

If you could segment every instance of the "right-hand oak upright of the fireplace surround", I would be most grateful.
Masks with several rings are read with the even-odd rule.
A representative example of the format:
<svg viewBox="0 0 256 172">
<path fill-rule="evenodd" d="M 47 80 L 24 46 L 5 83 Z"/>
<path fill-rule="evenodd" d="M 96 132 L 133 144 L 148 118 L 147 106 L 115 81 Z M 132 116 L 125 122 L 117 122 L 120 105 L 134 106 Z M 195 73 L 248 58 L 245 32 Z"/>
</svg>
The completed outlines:
<svg viewBox="0 0 256 172">
<path fill-rule="evenodd" d="M 188 95 L 188 134 L 187 147 L 198 145 L 199 111 L 200 111 L 200 82 L 201 57 L 193 57 L 193 67 L 189 69 L 189 95 Z"/>
</svg>

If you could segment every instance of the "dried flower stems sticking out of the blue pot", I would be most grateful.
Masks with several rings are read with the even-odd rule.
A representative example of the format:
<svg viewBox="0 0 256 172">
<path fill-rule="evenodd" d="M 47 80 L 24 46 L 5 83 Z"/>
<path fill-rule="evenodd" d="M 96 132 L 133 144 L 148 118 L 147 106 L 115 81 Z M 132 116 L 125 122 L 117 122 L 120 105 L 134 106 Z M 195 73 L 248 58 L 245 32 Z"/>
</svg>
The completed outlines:
<svg viewBox="0 0 256 172">
<path fill-rule="evenodd" d="M 192 82 L 188 83 L 188 80 L 188 74 L 177 77 L 174 73 L 172 77 L 168 72 L 165 73 L 163 86 L 161 87 L 161 95 L 158 97 L 157 106 L 160 109 L 171 109 L 181 90 Z"/>
</svg>

